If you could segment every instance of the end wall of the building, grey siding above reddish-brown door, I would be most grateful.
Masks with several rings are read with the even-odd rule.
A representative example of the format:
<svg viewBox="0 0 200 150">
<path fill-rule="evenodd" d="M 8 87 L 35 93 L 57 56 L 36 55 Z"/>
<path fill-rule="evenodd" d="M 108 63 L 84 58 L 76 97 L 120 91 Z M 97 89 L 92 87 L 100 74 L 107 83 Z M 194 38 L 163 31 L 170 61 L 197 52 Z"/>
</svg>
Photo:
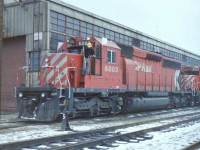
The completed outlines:
<svg viewBox="0 0 200 150">
<path fill-rule="evenodd" d="M 40 59 L 40 55 L 47 51 L 47 3 L 28 0 L 23 4 L 5 4 L 1 109 L 15 110 L 18 68 L 31 66 L 31 62 L 35 63 L 35 59 Z M 39 62 L 35 65 L 39 66 Z M 36 72 L 32 70 L 35 79 L 38 77 Z"/>
</svg>

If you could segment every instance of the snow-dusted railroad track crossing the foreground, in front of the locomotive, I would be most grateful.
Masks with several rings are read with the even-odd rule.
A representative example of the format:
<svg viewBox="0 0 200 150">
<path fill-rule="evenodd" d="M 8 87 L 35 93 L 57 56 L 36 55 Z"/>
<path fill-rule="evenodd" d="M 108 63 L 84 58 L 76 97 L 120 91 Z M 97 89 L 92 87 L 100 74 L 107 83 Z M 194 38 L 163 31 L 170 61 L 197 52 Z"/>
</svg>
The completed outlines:
<svg viewBox="0 0 200 150">
<path fill-rule="evenodd" d="M 173 121 L 172 121 L 173 120 Z M 98 147 L 112 147 L 117 146 L 117 142 L 140 142 L 149 140 L 153 137 L 147 133 L 150 131 L 157 131 L 166 129 L 167 131 L 175 130 L 178 125 L 183 127 L 184 124 L 192 121 L 200 120 L 199 112 L 179 115 L 174 117 L 165 117 L 160 119 L 150 119 L 126 125 L 107 127 L 98 130 L 91 130 L 85 132 L 68 133 L 65 135 L 37 138 L 31 140 L 24 140 L 19 142 L 12 142 L 1 144 L 0 149 L 83 149 L 84 147 L 95 148 Z M 142 127 L 148 124 L 148 127 Z M 173 127 L 173 128 L 170 128 Z M 130 132 L 127 132 L 130 128 Z M 131 129 L 133 128 L 133 129 Z"/>
</svg>

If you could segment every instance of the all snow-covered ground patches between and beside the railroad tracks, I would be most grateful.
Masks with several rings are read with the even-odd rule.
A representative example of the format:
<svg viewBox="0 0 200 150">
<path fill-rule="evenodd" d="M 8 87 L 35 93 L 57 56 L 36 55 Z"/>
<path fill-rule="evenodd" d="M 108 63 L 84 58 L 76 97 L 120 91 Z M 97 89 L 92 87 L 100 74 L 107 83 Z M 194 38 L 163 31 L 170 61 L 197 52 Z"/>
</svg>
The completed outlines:
<svg viewBox="0 0 200 150">
<path fill-rule="evenodd" d="M 192 111 L 192 110 L 191 110 Z M 184 112 L 181 112 L 184 114 Z M 173 113 L 172 113 L 173 114 Z M 171 115 L 172 115 L 171 114 Z M 179 114 L 179 112 L 174 113 Z M 16 115 L 16 114 L 15 114 Z M 16 117 L 15 115 L 10 115 L 10 119 L 12 120 L 13 117 Z M 140 116 L 137 114 L 137 116 Z M 169 115 L 167 115 L 169 116 Z M 127 115 L 126 118 L 118 118 L 117 116 L 114 117 L 107 117 L 104 120 L 102 118 L 93 118 L 91 120 L 72 120 L 70 121 L 70 127 L 73 130 L 76 131 L 86 131 L 91 129 L 97 129 L 97 128 L 103 128 L 103 127 L 109 127 L 109 126 L 115 126 L 119 124 L 129 123 L 133 121 L 137 121 L 135 119 L 135 115 Z M 154 117 L 155 118 L 155 117 Z M 159 118 L 157 116 L 156 118 Z M 7 117 L 8 119 L 8 117 Z M 140 118 L 138 118 L 140 119 Z M 7 122 L 5 118 L 1 118 L 3 122 Z M 164 123 L 164 122 L 163 122 Z M 54 136 L 54 135 L 62 135 L 62 134 L 68 134 L 69 131 L 59 131 L 60 130 L 60 123 L 56 124 L 49 124 L 49 125 L 37 125 L 33 124 L 31 126 L 24 126 L 20 128 L 20 131 L 16 131 L 15 128 L 10 128 L 10 132 L 8 133 L 1 133 L 0 132 L 0 144 L 2 143 L 8 143 L 18 140 L 27 140 L 32 138 L 39 138 L 39 137 L 46 137 L 46 136 Z M 151 127 L 150 124 L 147 124 L 146 127 Z M 123 132 L 127 131 L 136 131 L 140 130 L 142 128 L 146 128 L 145 125 L 143 126 L 137 126 L 133 128 L 127 128 L 124 129 Z M 200 134 L 198 132 L 200 131 L 200 123 L 196 122 L 193 125 L 183 127 L 183 128 L 177 128 L 175 131 L 171 132 L 151 132 L 150 134 L 153 135 L 152 140 L 147 141 L 141 141 L 139 143 L 124 143 L 124 144 L 118 144 L 119 146 L 116 148 L 109 148 L 113 150 L 171 150 L 171 149 L 181 149 L 185 145 L 189 145 L 189 143 L 194 142 L 195 140 L 200 140 Z"/>
</svg>

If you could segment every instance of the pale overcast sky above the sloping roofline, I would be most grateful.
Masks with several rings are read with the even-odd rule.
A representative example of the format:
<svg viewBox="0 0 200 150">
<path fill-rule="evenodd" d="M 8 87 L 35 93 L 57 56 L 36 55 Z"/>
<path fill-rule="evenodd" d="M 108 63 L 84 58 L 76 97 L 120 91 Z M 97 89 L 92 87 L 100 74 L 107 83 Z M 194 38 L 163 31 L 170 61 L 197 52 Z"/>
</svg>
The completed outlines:
<svg viewBox="0 0 200 150">
<path fill-rule="evenodd" d="M 62 0 L 200 55 L 200 0 Z"/>
</svg>

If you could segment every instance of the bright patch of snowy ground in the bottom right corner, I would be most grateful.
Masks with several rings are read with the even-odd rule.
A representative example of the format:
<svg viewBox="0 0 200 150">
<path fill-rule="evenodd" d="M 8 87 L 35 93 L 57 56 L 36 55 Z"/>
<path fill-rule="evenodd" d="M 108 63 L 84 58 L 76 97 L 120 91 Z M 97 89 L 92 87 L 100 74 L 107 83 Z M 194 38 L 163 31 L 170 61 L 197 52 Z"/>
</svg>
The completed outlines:
<svg viewBox="0 0 200 150">
<path fill-rule="evenodd" d="M 110 150 L 180 150 L 185 146 L 200 140 L 200 123 L 195 123 L 188 127 L 177 128 L 171 132 L 151 132 L 153 139 L 141 141 L 139 143 L 118 144 L 116 148 Z"/>
</svg>

